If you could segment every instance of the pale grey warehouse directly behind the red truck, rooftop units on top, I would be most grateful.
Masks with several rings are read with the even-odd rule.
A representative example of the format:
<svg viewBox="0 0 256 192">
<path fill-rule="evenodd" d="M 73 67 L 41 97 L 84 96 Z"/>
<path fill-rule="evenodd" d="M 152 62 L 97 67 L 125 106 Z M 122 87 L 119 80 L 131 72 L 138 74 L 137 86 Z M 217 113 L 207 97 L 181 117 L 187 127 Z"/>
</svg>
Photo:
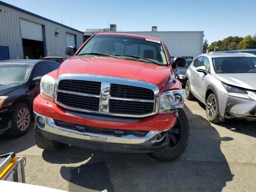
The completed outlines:
<svg viewBox="0 0 256 192">
<path fill-rule="evenodd" d="M 115 28 L 111 28 L 111 26 L 115 26 Z M 96 32 L 116 32 L 116 25 L 110 25 L 109 29 L 86 29 L 86 32 L 84 32 L 84 40 L 87 40 Z M 153 26 L 151 31 L 118 31 L 118 33 L 160 38 L 166 44 L 172 58 L 183 57 L 185 59 L 194 59 L 203 52 L 203 31 L 157 31 L 157 27 Z"/>
</svg>

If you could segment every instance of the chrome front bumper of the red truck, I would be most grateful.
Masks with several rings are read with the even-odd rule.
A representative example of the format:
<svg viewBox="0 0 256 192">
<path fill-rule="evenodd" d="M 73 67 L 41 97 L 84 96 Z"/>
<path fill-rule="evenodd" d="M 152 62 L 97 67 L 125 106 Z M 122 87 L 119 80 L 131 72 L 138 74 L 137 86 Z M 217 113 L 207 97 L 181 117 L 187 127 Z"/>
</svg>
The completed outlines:
<svg viewBox="0 0 256 192">
<path fill-rule="evenodd" d="M 143 136 L 102 134 L 60 126 L 55 123 L 54 119 L 36 112 L 34 112 L 34 117 L 41 134 L 46 138 L 83 148 L 114 152 L 148 153 L 161 150 L 169 143 L 169 140 L 164 137 L 162 140 L 156 139 L 158 134 L 167 130 L 153 130 Z M 43 118 L 44 125 L 38 122 L 39 117 Z"/>
</svg>

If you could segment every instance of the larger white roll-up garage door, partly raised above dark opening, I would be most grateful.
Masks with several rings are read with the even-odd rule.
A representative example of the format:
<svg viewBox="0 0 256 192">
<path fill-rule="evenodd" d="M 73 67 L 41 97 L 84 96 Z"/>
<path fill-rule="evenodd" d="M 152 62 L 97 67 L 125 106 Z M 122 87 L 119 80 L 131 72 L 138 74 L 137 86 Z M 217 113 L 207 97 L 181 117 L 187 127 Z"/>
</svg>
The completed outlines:
<svg viewBox="0 0 256 192">
<path fill-rule="evenodd" d="M 20 30 L 22 39 L 44 41 L 43 27 L 40 24 L 20 19 Z"/>
</svg>

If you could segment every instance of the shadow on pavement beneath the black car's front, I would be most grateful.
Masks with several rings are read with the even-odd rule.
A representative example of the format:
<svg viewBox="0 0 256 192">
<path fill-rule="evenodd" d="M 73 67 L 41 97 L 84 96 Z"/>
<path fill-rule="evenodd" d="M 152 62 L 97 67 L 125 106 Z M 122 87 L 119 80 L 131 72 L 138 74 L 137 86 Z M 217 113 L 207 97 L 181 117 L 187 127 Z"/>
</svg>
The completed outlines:
<svg viewBox="0 0 256 192">
<path fill-rule="evenodd" d="M 12 138 L 9 136 L 0 136 L 0 154 L 6 154 L 9 152 L 19 153 L 35 145 L 34 142 L 34 122 L 29 128 L 28 132 L 18 138 Z"/>
</svg>

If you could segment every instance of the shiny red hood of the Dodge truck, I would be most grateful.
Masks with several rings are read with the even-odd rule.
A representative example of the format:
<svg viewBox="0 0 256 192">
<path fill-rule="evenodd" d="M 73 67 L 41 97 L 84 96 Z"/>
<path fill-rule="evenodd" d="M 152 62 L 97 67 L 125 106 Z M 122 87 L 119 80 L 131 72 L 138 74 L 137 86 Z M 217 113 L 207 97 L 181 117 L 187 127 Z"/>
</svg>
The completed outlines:
<svg viewBox="0 0 256 192">
<path fill-rule="evenodd" d="M 170 80 L 170 67 L 106 57 L 70 58 L 63 62 L 58 75 L 66 73 L 97 74 L 149 82 L 162 88 Z"/>
</svg>

